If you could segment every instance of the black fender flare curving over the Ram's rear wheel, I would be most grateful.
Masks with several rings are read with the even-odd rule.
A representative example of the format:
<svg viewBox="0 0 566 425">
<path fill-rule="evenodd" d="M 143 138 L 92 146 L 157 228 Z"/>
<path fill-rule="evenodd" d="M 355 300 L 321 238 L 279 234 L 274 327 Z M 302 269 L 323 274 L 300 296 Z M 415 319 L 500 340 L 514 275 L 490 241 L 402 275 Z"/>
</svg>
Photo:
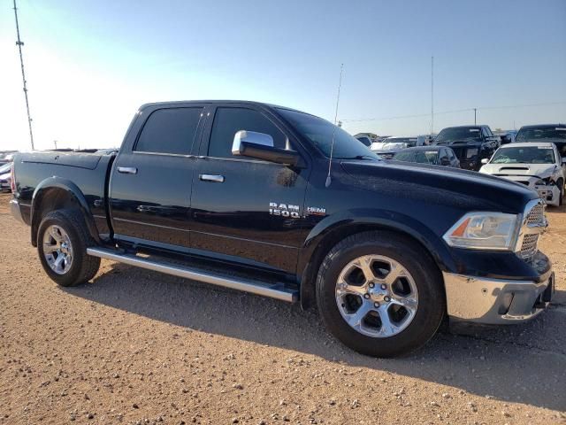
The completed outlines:
<svg viewBox="0 0 566 425">
<path fill-rule="evenodd" d="M 30 223 L 31 223 L 31 238 L 32 244 L 37 246 L 37 229 L 39 228 L 39 219 L 37 217 L 37 211 L 42 204 L 42 198 L 48 189 L 63 189 L 67 194 L 77 201 L 80 213 L 85 220 L 85 224 L 88 228 L 88 233 L 96 241 L 100 243 L 100 237 L 98 236 L 98 230 L 96 228 L 95 219 L 88 208 L 87 199 L 85 198 L 79 187 L 68 179 L 63 179 L 61 177 L 53 176 L 40 182 L 34 189 L 34 195 L 32 196 L 32 204 L 30 210 Z"/>
</svg>

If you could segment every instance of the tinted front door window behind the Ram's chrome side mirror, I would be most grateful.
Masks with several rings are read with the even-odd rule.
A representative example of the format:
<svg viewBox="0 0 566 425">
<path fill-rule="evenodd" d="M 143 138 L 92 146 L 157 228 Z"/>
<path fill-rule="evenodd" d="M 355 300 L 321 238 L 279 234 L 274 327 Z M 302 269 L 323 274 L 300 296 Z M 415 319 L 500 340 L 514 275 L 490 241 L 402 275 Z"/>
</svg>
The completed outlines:
<svg viewBox="0 0 566 425">
<path fill-rule="evenodd" d="M 232 155 L 233 136 L 240 130 L 271 135 L 276 148 L 287 149 L 287 136 L 262 113 L 248 108 L 220 107 L 214 115 L 208 156 L 241 159 Z"/>
</svg>

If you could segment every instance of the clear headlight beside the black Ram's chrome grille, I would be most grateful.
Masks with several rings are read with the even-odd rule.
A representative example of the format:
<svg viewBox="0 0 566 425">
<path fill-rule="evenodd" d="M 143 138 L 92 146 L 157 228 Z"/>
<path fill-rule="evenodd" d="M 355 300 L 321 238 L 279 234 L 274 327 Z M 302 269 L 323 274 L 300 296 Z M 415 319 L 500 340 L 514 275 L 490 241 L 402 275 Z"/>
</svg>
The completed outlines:
<svg viewBox="0 0 566 425">
<path fill-rule="evenodd" d="M 516 214 L 467 213 L 444 235 L 450 246 L 471 250 L 511 250 L 519 228 Z"/>
</svg>

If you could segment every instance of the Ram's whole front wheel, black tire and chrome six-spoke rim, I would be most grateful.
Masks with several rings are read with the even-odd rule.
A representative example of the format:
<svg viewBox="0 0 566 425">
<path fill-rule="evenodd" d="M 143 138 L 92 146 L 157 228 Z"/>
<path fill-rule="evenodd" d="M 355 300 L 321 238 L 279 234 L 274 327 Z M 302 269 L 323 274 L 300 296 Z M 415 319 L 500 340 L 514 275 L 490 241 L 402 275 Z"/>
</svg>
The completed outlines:
<svg viewBox="0 0 566 425">
<path fill-rule="evenodd" d="M 393 357 L 425 344 L 446 310 L 438 268 L 409 238 L 391 232 L 348 236 L 317 276 L 318 310 L 348 347 Z"/>
</svg>

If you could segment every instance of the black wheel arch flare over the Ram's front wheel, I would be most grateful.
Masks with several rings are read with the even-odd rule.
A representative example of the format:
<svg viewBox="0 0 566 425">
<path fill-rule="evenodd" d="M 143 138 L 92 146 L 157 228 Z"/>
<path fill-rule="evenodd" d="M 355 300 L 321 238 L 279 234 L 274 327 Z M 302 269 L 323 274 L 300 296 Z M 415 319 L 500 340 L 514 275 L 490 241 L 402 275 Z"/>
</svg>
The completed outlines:
<svg viewBox="0 0 566 425">
<path fill-rule="evenodd" d="M 301 277 L 300 300 L 303 309 L 316 304 L 315 282 L 326 254 L 342 239 L 357 233 L 381 230 L 407 237 L 430 255 L 439 273 L 455 267 L 446 243 L 420 221 L 392 212 L 357 216 L 354 213 L 348 216 L 357 218 L 336 217 L 326 223 L 325 220 L 320 221 L 302 247 L 297 271 Z"/>
</svg>

